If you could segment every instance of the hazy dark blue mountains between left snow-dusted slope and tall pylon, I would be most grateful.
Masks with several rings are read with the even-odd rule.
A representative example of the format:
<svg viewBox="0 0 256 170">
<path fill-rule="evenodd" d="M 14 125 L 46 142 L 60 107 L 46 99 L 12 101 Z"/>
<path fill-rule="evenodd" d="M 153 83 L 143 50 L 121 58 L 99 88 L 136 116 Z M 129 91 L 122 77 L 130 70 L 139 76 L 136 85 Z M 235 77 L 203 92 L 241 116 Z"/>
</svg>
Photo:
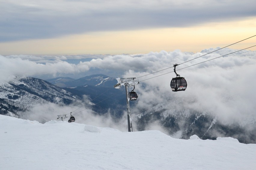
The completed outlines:
<svg viewBox="0 0 256 170">
<path fill-rule="evenodd" d="M 98 103 L 92 108 L 96 113 L 104 114 L 110 111 L 114 117 L 120 117 L 126 109 L 125 90 L 115 89 L 114 85 L 117 84 L 117 80 L 107 75 L 96 74 L 79 79 L 58 77 L 46 81 L 80 98 L 87 95 L 93 103 Z"/>
</svg>

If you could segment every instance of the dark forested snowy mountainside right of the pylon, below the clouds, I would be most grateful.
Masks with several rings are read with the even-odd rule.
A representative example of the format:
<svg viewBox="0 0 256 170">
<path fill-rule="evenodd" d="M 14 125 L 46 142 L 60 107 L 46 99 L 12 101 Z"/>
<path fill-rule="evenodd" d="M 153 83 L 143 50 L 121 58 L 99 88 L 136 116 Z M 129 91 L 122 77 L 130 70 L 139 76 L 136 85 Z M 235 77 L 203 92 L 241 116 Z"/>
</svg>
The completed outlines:
<svg viewBox="0 0 256 170">
<path fill-rule="evenodd" d="M 178 107 L 179 103 L 161 103 L 151 109 L 137 114 L 139 130 L 156 121 L 172 136 L 188 139 L 196 134 L 201 139 L 216 139 L 217 137 L 234 137 L 243 143 L 256 143 L 256 121 L 251 118 L 248 122 L 222 122 L 217 116 L 207 111 L 197 111 Z"/>
</svg>

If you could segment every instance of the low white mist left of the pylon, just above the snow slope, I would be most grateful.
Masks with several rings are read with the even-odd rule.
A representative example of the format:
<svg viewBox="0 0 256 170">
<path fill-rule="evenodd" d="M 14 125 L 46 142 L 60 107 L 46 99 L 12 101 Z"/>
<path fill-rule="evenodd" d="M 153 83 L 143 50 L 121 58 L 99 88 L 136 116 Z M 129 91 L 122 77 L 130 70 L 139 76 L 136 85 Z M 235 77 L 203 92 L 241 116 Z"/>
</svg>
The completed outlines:
<svg viewBox="0 0 256 170">
<path fill-rule="evenodd" d="M 19 113 L 19 115 L 22 119 L 35 120 L 39 123 L 45 123 L 51 120 L 61 121 L 62 116 L 57 119 L 58 115 L 66 115 L 66 118 L 63 116 L 63 121 L 68 121 L 72 115 L 75 117 L 76 123 L 127 131 L 127 116 L 125 114 L 118 120 L 113 118 L 109 112 L 99 115 L 91 110 L 90 106 L 84 106 L 84 102 L 76 101 L 74 104 L 68 106 L 59 106 L 54 103 L 41 104 L 34 106 L 29 111 Z M 70 114 L 70 112 L 72 113 Z"/>
</svg>

